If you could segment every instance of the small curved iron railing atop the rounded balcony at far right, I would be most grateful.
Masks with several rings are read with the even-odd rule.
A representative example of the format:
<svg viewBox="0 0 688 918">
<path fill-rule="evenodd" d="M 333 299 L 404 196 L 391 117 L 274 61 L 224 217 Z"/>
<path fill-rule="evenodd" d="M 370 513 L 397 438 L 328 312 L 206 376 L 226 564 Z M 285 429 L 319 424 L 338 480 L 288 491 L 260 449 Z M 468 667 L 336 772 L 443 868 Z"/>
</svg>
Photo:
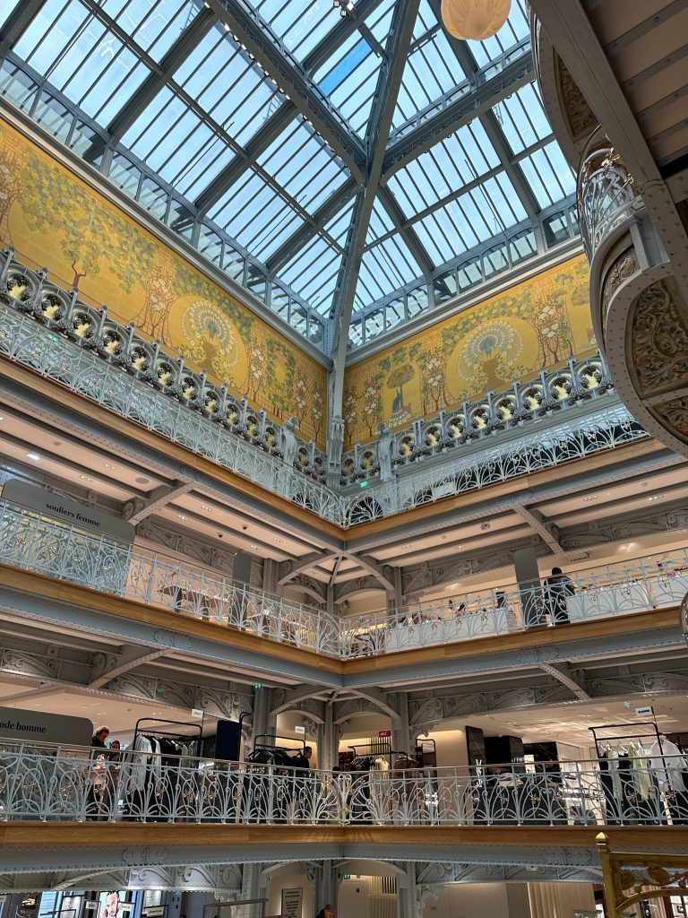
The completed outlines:
<svg viewBox="0 0 688 918">
<path fill-rule="evenodd" d="M 601 128 L 583 148 L 577 196 L 583 245 L 592 261 L 600 242 L 632 214 L 639 200 L 633 176 Z"/>
</svg>

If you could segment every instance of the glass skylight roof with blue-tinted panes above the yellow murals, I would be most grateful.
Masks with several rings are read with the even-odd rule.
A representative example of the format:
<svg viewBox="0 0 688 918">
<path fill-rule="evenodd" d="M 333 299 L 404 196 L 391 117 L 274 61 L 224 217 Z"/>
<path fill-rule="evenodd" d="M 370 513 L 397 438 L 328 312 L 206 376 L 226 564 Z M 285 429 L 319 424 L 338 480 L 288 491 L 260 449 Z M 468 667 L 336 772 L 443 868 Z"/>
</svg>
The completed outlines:
<svg viewBox="0 0 688 918">
<path fill-rule="evenodd" d="M 225 17 L 204 0 L 46 0 L 0 59 L 0 93 L 320 343 L 342 296 L 402 2 L 354 3 L 341 17 L 332 0 L 221 0 Z M 21 6 L 7 0 L 0 23 L 18 21 Z M 263 24 L 255 42 L 241 34 L 258 27 L 242 25 L 239 7 Z M 394 158 L 372 176 L 378 196 L 350 291 L 354 344 L 413 319 L 438 291 L 442 301 L 460 292 L 464 274 L 469 285 L 487 276 L 504 261 L 489 254 L 498 243 L 509 240 L 514 263 L 531 257 L 537 233 L 547 235 L 539 219 L 560 212 L 557 225 L 573 226 L 573 174 L 531 71 L 511 92 L 500 75 L 492 109 L 467 115 L 472 93 L 527 61 L 524 0 L 483 42 L 450 39 L 438 7 L 420 0 L 396 68 L 390 138 L 378 141 Z M 467 258 L 480 271 L 461 266 Z"/>
</svg>

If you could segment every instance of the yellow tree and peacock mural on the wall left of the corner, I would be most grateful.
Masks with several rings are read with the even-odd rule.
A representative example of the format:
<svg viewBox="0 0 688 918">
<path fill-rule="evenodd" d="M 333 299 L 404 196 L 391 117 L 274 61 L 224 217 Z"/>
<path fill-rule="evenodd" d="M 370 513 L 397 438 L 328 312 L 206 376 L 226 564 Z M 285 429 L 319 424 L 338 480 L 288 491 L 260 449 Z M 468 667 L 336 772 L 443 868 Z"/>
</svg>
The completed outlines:
<svg viewBox="0 0 688 918">
<path fill-rule="evenodd" d="M 323 446 L 327 372 L 15 129 L 0 123 L 0 243 L 84 302 Z"/>
</svg>

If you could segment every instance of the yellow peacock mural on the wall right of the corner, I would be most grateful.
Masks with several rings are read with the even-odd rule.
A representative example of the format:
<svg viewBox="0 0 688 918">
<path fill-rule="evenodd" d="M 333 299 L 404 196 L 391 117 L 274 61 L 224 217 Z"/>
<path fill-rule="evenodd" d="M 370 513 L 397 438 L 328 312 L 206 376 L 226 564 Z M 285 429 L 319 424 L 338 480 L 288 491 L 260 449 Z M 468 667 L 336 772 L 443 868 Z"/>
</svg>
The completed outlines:
<svg viewBox="0 0 688 918">
<path fill-rule="evenodd" d="M 594 353 L 588 283 L 581 255 L 348 367 L 345 445 Z"/>
</svg>

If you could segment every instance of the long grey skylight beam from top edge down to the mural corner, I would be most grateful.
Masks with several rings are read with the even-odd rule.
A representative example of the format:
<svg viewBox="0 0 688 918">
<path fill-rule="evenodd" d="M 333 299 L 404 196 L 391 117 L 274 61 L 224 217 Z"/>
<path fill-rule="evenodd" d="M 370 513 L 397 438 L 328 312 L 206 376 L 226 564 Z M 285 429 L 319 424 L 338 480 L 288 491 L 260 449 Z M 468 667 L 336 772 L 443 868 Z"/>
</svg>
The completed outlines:
<svg viewBox="0 0 688 918">
<path fill-rule="evenodd" d="M 394 109 L 399 96 L 409 45 L 413 39 L 420 0 L 397 0 L 392 18 L 388 57 L 378 73 L 375 102 L 368 122 L 367 182 L 356 199 L 349 236 L 337 282 L 335 295 L 335 329 L 333 339 L 333 370 L 329 386 L 330 418 L 341 417 L 344 394 L 344 364 L 349 343 L 351 310 L 356 297 L 356 285 L 361 272 L 361 260 L 371 222 L 372 207 L 377 198 L 383 175 L 384 151 L 389 140 Z"/>
</svg>

